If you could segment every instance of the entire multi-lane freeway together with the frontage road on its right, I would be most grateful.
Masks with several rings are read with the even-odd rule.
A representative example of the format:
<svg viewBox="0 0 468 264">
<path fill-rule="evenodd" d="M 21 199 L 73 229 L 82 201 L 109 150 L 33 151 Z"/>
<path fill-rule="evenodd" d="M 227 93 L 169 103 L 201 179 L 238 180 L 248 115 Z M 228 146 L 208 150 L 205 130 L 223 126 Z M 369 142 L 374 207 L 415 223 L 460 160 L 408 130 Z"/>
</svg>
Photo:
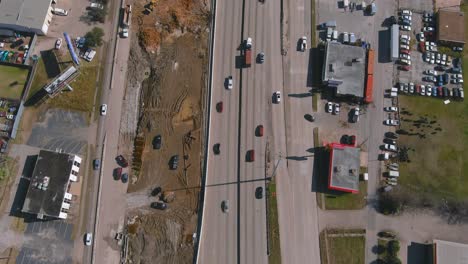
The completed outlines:
<svg viewBox="0 0 468 264">
<path fill-rule="evenodd" d="M 288 97 L 310 90 L 309 52 L 295 50 L 300 37 L 307 35 L 310 40 L 310 3 L 289 1 L 291 20 L 285 31 L 291 47 L 283 58 L 280 1 L 216 2 L 211 105 L 223 102 L 224 109 L 218 113 L 211 107 L 209 146 L 219 143 L 221 153 L 208 151 L 198 263 L 268 262 L 266 204 L 264 198 L 255 197 L 256 188 L 264 188 L 265 179 L 271 176 L 267 165 L 278 165 L 283 262 L 320 261 L 315 194 L 311 190 L 313 159 L 303 163 L 286 160 L 287 156 L 310 155 L 306 150 L 313 147 L 312 128 L 302 118 L 312 111 L 311 100 Z M 253 42 L 253 63 L 245 68 L 240 67 L 241 50 L 248 37 Z M 260 52 L 265 53 L 264 63 L 255 62 Z M 227 90 L 224 82 L 230 75 L 234 87 Z M 279 104 L 273 99 L 275 91 L 284 95 Z M 264 126 L 263 137 L 255 135 L 258 125 Z M 270 164 L 266 162 L 267 146 Z M 252 149 L 255 161 L 247 162 L 247 151 Z M 229 201 L 228 213 L 221 209 L 225 200 Z"/>
</svg>

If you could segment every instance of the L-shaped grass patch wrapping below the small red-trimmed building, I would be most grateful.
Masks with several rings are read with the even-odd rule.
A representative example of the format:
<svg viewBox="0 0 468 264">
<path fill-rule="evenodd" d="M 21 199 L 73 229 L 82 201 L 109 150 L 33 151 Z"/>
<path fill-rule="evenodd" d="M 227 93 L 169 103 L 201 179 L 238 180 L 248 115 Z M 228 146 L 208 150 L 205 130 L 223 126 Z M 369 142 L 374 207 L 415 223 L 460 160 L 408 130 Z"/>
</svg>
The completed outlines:
<svg viewBox="0 0 468 264">
<path fill-rule="evenodd" d="M 366 206 L 367 181 L 359 182 L 359 193 L 324 194 L 326 210 L 357 210 Z"/>
</svg>

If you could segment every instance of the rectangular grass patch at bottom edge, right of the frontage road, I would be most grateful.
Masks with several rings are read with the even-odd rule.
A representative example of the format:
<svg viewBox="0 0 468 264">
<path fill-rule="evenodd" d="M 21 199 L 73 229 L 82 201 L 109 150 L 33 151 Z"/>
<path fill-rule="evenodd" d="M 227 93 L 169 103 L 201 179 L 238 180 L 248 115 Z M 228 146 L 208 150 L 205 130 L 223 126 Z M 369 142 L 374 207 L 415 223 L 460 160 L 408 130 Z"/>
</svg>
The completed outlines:
<svg viewBox="0 0 468 264">
<path fill-rule="evenodd" d="M 332 233 L 324 230 L 320 234 L 320 254 L 323 264 L 364 263 L 366 248 L 364 230 L 335 230 Z"/>
</svg>

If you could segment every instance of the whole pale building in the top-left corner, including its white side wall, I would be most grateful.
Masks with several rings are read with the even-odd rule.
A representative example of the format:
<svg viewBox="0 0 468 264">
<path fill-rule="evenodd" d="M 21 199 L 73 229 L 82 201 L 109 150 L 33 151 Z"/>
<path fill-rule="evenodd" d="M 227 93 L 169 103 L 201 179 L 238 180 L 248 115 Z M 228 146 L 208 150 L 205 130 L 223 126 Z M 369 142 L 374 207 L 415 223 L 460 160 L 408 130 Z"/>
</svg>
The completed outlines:
<svg viewBox="0 0 468 264">
<path fill-rule="evenodd" d="M 52 0 L 1 0 L 0 28 L 46 35 L 52 21 Z"/>
</svg>

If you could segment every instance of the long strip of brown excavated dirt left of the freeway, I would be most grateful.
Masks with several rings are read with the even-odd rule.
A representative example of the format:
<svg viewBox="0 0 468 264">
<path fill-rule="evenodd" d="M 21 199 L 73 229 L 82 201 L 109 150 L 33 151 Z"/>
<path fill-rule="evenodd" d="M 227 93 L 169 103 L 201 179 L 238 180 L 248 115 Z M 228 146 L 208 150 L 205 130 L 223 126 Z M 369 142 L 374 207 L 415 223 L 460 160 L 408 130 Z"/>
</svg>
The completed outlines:
<svg viewBox="0 0 468 264">
<path fill-rule="evenodd" d="M 193 259 L 204 138 L 207 3 L 133 3 L 134 34 L 120 142 L 132 157 L 128 263 L 190 263 Z M 154 146 L 157 135 L 160 149 Z M 178 166 L 171 169 L 175 155 Z M 162 190 L 152 195 L 156 187 Z M 166 202 L 167 209 L 150 207 L 158 200 Z"/>
</svg>

